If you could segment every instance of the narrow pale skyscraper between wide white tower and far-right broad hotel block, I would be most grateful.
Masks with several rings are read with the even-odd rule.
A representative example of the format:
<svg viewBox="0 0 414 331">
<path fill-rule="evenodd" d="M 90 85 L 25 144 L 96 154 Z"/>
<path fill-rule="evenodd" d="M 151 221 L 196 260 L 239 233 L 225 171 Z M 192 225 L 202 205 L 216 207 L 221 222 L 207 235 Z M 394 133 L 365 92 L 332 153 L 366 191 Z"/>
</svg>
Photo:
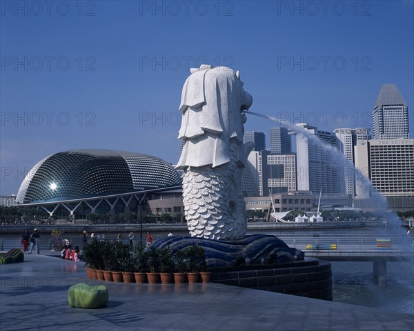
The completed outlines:
<svg viewBox="0 0 414 331">
<path fill-rule="evenodd" d="M 342 143 L 342 149 L 346 159 L 355 165 L 354 147 L 360 141 L 368 141 L 371 139 L 370 130 L 366 128 L 345 128 L 335 129 L 334 132 Z M 346 165 L 345 167 L 345 193 L 351 194 L 351 197 L 355 197 L 355 170 L 351 165 Z"/>
</svg>

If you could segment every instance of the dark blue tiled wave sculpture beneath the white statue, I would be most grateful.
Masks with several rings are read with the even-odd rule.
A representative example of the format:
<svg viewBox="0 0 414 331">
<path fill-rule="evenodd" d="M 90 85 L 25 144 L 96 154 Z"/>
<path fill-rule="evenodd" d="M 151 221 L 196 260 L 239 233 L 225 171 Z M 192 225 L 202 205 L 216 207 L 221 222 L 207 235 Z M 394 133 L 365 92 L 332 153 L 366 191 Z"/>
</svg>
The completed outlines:
<svg viewBox="0 0 414 331">
<path fill-rule="evenodd" d="M 164 237 L 152 246 L 169 246 L 172 252 L 190 245 L 204 248 L 208 268 L 238 264 L 272 264 L 301 261 L 304 252 L 290 248 L 284 241 L 266 234 L 252 234 L 240 240 L 221 241 L 197 237 Z"/>
</svg>

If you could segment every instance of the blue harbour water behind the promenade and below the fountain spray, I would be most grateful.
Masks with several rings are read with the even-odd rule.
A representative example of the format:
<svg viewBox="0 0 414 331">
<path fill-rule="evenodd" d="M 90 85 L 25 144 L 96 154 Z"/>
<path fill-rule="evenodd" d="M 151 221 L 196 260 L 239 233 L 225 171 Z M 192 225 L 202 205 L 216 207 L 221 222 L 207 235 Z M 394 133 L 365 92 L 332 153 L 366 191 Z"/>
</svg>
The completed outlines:
<svg viewBox="0 0 414 331">
<path fill-rule="evenodd" d="M 255 231 L 255 233 L 257 232 Z M 152 233 L 152 237 L 156 240 L 167 234 L 168 232 L 157 232 Z M 188 235 L 187 233 L 174 234 Z M 289 241 L 292 238 L 300 238 L 299 234 L 294 230 L 267 232 L 266 234 L 273 234 L 281 239 L 286 239 L 288 244 L 290 244 Z M 126 242 L 128 233 L 122 233 L 122 235 Z M 301 233 L 300 235 L 303 236 L 304 234 Z M 310 234 L 310 237 L 313 235 L 315 233 Z M 342 233 L 339 233 L 337 230 L 327 230 L 318 235 L 321 238 L 335 237 L 344 239 L 353 237 L 355 239 L 355 235 L 359 238 L 384 237 L 384 232 L 378 229 L 347 229 Z M 116 236 L 116 233 L 105 234 L 108 240 L 115 239 Z M 139 233 L 135 233 L 135 236 L 135 239 L 139 241 Z M 10 244 L 19 244 L 18 235 L 5 234 L 1 237 L 5 240 L 5 249 Z M 43 240 L 45 237 L 43 237 Z M 75 245 L 81 245 L 81 234 L 67 234 L 64 237 Z M 143 234 L 143 239 L 146 241 L 146 234 Z M 408 249 L 413 252 L 414 246 Z M 384 288 L 375 284 L 373 280 L 372 262 L 331 262 L 331 264 L 333 274 L 333 301 L 414 314 L 414 265 L 412 262 L 388 262 L 387 286 Z"/>
</svg>

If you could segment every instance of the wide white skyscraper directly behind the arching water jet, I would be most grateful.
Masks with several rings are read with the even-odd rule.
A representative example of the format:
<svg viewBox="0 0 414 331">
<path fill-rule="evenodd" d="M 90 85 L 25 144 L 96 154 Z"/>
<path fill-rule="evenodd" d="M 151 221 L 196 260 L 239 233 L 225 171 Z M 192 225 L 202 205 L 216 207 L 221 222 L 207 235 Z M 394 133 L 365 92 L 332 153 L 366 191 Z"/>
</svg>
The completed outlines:
<svg viewBox="0 0 414 331">
<path fill-rule="evenodd" d="M 333 132 L 317 130 L 307 123 L 298 123 L 296 126 L 304 128 L 310 134 L 315 134 L 323 143 L 342 151 L 342 144 Z M 304 134 L 296 135 L 297 159 L 297 190 L 312 191 L 319 194 L 344 193 L 343 163 L 337 162 L 337 157 L 322 148 L 315 141 L 308 140 Z"/>
</svg>

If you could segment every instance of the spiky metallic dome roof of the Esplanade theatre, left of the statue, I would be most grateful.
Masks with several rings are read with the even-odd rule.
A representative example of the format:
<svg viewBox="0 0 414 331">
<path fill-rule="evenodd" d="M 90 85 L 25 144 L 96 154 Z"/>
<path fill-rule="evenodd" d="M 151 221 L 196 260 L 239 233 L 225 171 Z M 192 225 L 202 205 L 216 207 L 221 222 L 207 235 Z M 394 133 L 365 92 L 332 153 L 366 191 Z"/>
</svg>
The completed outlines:
<svg viewBox="0 0 414 331">
<path fill-rule="evenodd" d="M 16 200 L 63 201 L 180 184 L 177 170 L 159 157 L 120 150 L 68 150 L 34 165 Z"/>
</svg>

